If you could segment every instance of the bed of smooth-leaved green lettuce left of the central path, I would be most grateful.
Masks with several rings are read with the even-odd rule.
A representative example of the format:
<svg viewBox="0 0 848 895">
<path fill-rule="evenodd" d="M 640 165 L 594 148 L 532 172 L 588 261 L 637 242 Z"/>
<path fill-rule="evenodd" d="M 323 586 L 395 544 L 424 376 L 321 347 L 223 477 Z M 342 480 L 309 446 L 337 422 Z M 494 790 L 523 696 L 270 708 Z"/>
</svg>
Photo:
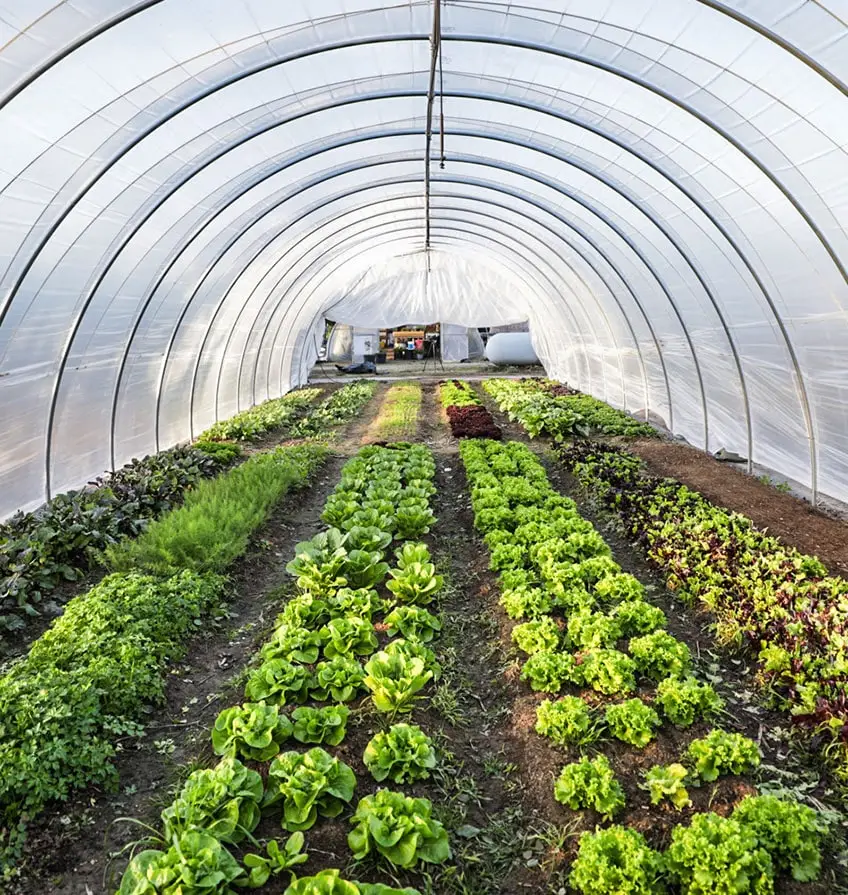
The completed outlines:
<svg viewBox="0 0 848 895">
<path fill-rule="evenodd" d="M 272 827 L 254 823 L 256 805 L 277 828 L 310 836 L 324 819 L 350 815 L 347 839 L 359 860 L 412 868 L 450 858 L 447 833 L 432 816 L 430 801 L 385 789 L 357 800 L 356 773 L 336 751 L 344 747 L 353 712 L 361 715 L 370 704 L 393 718 L 420 698 L 440 671 L 421 641 L 431 640 L 441 627 L 427 607 L 433 606 L 442 579 L 426 545 L 414 540 L 435 522 L 434 470 L 421 446 L 362 448 L 325 502 L 329 527 L 295 547 L 287 571 L 296 594 L 248 675 L 248 701 L 223 709 L 211 732 L 222 762 L 195 771 L 196 781 L 189 781 L 192 792 L 208 790 L 213 780 L 224 784 L 198 796 L 201 808 L 192 814 L 192 830 L 214 840 L 204 840 L 205 860 L 218 885 L 249 885 L 251 877 L 265 882 L 285 870 L 291 892 L 416 895 L 411 889 L 346 882 L 338 870 L 297 880 L 294 859 L 308 858 L 303 840 L 296 849 L 273 838 L 265 841 Z M 369 777 L 392 785 L 425 779 L 437 766 L 432 740 L 402 723 L 386 729 L 377 724 L 362 761 Z M 245 777 L 241 762 L 260 773 Z M 186 814 L 185 802 L 184 791 L 165 809 L 165 826 L 148 843 L 156 847 L 130 862 L 120 892 L 134 891 L 146 868 L 174 863 L 169 819 Z M 224 813 L 230 820 L 244 816 L 236 825 L 243 836 L 234 838 L 233 824 L 218 822 Z M 250 846 L 254 851 L 247 853 Z M 289 856 L 283 866 L 280 855 Z"/>
</svg>

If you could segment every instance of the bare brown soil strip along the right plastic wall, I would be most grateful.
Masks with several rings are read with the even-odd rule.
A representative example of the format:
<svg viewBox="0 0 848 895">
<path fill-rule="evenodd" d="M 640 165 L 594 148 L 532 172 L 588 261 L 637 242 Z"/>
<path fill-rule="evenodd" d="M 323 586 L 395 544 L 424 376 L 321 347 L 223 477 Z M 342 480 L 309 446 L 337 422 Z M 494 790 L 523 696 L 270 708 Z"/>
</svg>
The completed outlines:
<svg viewBox="0 0 848 895">
<path fill-rule="evenodd" d="M 713 503 L 743 513 L 785 544 L 818 556 L 833 574 L 848 576 L 848 525 L 841 519 L 688 445 L 639 439 L 626 447 L 653 475 L 677 479 Z"/>
</svg>

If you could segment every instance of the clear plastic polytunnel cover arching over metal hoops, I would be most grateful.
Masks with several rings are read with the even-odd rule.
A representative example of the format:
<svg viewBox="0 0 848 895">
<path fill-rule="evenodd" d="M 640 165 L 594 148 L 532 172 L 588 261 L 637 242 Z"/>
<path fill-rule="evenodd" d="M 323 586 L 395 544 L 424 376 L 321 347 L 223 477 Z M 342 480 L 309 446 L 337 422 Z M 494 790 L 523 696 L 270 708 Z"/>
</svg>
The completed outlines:
<svg viewBox="0 0 848 895">
<path fill-rule="evenodd" d="M 326 317 L 848 499 L 838 0 L 0 0 L 0 516 L 305 382 Z"/>
</svg>

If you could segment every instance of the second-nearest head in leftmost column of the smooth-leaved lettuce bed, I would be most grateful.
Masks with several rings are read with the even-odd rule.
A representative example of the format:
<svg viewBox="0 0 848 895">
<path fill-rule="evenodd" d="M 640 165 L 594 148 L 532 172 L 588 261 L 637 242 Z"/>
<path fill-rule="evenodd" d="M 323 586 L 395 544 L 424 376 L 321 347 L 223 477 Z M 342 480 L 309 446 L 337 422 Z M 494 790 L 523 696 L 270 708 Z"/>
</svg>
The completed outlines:
<svg viewBox="0 0 848 895">
<path fill-rule="evenodd" d="M 193 771 L 162 812 L 165 839 L 200 830 L 224 843 L 241 842 L 259 823 L 262 795 L 262 778 L 236 758 Z"/>
</svg>

